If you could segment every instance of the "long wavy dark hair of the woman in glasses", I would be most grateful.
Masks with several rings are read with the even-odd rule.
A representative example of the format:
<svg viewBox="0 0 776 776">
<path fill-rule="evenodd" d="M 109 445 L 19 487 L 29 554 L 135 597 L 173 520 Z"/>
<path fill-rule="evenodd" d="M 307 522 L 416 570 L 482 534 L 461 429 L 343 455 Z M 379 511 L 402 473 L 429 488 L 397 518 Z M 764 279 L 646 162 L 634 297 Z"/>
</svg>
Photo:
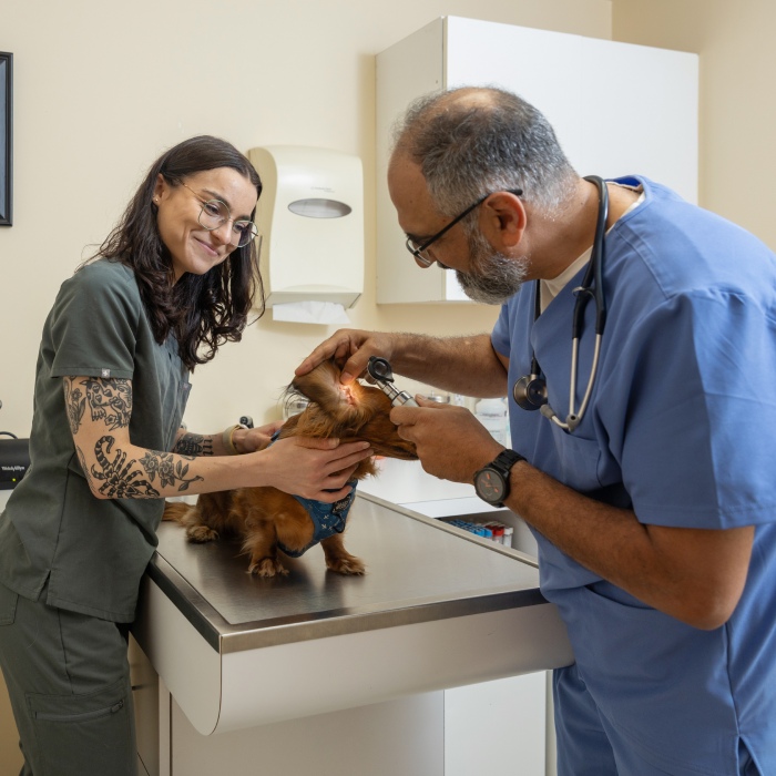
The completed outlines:
<svg viewBox="0 0 776 776">
<path fill-rule="evenodd" d="M 224 343 L 239 341 L 252 307 L 257 308 L 258 317 L 264 314 L 255 241 L 235 248 L 204 275 L 185 273 L 177 283 L 171 279 L 172 257 L 159 234 L 157 210 L 152 202 L 156 181 L 161 174 L 177 186 L 188 175 L 218 167 L 236 170 L 261 195 L 258 173 L 237 149 L 210 135 L 192 137 L 151 165 L 121 221 L 93 256 L 121 262 L 134 270 L 156 341 L 162 344 L 173 333 L 181 359 L 192 370 L 210 361 Z"/>
</svg>

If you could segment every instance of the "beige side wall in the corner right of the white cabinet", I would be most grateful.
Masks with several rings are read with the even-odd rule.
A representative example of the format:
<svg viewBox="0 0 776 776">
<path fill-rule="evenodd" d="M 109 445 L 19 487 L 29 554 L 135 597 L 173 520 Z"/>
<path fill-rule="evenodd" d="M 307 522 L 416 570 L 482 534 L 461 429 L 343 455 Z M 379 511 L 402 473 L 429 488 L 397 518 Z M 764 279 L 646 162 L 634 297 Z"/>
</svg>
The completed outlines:
<svg viewBox="0 0 776 776">
<path fill-rule="evenodd" d="M 772 0 L 612 0 L 615 40 L 701 54 L 704 207 L 776 248 Z"/>
</svg>

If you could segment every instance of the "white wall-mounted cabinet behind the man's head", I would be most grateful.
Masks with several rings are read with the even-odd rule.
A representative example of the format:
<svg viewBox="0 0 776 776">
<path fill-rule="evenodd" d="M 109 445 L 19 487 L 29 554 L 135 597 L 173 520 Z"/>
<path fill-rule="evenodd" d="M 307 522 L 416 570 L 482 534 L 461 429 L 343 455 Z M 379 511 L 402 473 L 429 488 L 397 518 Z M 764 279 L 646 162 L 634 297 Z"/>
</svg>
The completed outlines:
<svg viewBox="0 0 776 776">
<path fill-rule="evenodd" d="M 391 126 L 427 92 L 509 89 L 552 123 L 580 175 L 643 174 L 697 200 L 697 54 L 443 17 L 377 55 L 377 302 L 467 300 L 407 254 L 388 196 Z"/>
</svg>

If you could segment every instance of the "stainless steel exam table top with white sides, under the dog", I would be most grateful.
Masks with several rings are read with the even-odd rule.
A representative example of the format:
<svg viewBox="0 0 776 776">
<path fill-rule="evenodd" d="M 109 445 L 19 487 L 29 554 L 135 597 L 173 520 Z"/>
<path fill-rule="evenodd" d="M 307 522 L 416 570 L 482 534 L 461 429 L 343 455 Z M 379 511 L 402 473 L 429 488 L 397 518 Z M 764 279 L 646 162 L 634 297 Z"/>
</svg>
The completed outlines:
<svg viewBox="0 0 776 776">
<path fill-rule="evenodd" d="M 163 523 L 133 635 L 203 735 L 544 671 L 572 662 L 535 562 L 369 494 L 346 547 L 285 578 L 247 573 L 239 543 L 190 544 Z"/>
</svg>

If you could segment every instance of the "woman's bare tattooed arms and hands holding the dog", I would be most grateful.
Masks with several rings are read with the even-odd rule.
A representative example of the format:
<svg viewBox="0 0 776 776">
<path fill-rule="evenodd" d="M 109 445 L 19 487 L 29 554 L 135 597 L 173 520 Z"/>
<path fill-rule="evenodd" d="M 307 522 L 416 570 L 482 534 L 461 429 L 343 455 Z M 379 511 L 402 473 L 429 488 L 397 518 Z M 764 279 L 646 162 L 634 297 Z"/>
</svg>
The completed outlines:
<svg viewBox="0 0 776 776">
<path fill-rule="evenodd" d="M 132 443 L 132 381 L 64 377 L 65 407 L 73 442 L 89 487 L 98 499 L 159 499 L 241 487 L 273 486 L 318 501 L 344 498 L 355 466 L 371 455 L 366 442 L 288 438 L 272 448 L 261 445 L 264 429 L 243 430 L 234 445 L 242 456 L 223 450 L 218 435 L 185 439 L 175 451 L 151 450 Z M 236 435 L 235 435 L 236 436 Z M 210 440 L 210 441 L 206 441 Z M 183 445 L 182 445 L 183 442 Z M 253 447 L 255 445 L 255 447 Z M 213 455 L 178 450 L 202 447 Z M 248 450 L 255 451 L 248 451 Z"/>
</svg>

